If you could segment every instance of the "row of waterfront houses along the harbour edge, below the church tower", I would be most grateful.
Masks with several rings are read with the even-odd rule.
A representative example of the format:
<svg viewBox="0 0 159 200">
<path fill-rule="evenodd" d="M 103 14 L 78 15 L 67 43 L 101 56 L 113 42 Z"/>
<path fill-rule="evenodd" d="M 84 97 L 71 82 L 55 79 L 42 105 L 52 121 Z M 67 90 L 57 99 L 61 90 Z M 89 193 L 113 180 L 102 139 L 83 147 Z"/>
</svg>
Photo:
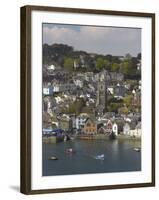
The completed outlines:
<svg viewBox="0 0 159 200">
<path fill-rule="evenodd" d="M 110 135 L 112 132 L 115 135 L 123 134 L 128 136 L 141 137 L 141 122 L 123 122 L 122 126 L 119 120 L 98 120 L 94 116 L 88 116 L 87 113 L 82 113 L 79 116 L 63 115 L 59 118 L 54 118 L 52 124 L 55 128 L 60 128 L 65 132 L 74 132 L 78 134 Z"/>
</svg>

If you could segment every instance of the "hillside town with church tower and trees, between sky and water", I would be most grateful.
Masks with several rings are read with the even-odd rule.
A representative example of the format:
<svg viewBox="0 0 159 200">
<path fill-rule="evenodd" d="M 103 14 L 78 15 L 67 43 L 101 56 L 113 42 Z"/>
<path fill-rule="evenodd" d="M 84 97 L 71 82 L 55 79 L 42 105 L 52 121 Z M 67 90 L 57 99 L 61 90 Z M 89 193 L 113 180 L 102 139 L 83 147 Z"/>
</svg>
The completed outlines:
<svg viewBox="0 0 159 200">
<path fill-rule="evenodd" d="M 42 87 L 43 136 L 141 137 L 141 57 L 119 56 L 109 67 L 103 55 L 53 57 L 43 63 Z"/>
</svg>

